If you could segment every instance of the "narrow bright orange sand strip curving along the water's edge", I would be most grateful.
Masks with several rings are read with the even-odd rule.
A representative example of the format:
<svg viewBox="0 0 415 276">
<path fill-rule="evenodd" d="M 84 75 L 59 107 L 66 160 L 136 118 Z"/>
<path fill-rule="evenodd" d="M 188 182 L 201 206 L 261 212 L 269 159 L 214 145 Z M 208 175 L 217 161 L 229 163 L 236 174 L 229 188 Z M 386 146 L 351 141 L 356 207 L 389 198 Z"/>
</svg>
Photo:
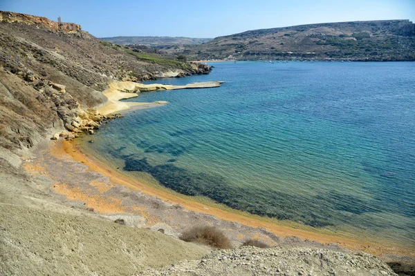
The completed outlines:
<svg viewBox="0 0 415 276">
<path fill-rule="evenodd" d="M 315 228 L 307 230 L 296 226 L 284 226 L 282 224 L 277 224 L 275 221 L 270 221 L 270 219 L 251 215 L 239 210 L 233 210 L 230 208 L 226 208 L 228 210 L 224 210 L 223 208 L 218 208 L 213 204 L 205 204 L 196 201 L 195 198 L 180 195 L 174 191 L 169 193 L 164 189 L 162 190 L 155 186 L 150 186 L 138 181 L 137 179 L 123 175 L 114 168 L 111 168 L 109 165 L 104 164 L 102 161 L 88 154 L 88 152 L 82 151 L 73 141 L 63 141 L 62 148 L 60 150 L 55 148 L 54 151 L 55 152 L 51 154 L 66 155 L 73 161 L 84 164 L 90 171 L 98 172 L 105 177 L 109 177 L 113 183 L 126 186 L 132 190 L 137 190 L 140 193 L 149 195 L 150 197 L 156 197 L 169 204 L 183 206 L 185 210 L 206 215 L 213 215 L 217 219 L 236 222 L 238 224 L 242 224 L 243 226 L 264 228 L 278 237 L 295 236 L 300 239 L 319 242 L 320 244 L 338 244 L 338 246 L 342 248 L 347 248 L 353 251 L 360 250 L 377 256 L 396 255 L 415 258 L 415 253 L 407 248 L 400 248 L 394 245 L 385 245 L 381 242 L 365 242 L 356 240 L 349 237 L 343 237 L 341 235 L 335 235 L 335 233 L 329 233 L 328 230 L 324 229 L 321 229 L 321 232 L 319 232 Z M 304 228 L 306 228 L 306 226 L 304 226 Z"/>
</svg>

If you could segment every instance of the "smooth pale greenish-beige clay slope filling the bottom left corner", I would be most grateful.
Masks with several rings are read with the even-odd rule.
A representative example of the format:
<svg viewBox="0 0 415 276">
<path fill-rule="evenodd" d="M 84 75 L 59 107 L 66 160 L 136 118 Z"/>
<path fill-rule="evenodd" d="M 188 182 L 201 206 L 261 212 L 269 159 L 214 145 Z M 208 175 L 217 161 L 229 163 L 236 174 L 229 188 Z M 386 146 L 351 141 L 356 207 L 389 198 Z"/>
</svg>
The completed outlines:
<svg viewBox="0 0 415 276">
<path fill-rule="evenodd" d="M 210 249 L 91 215 L 0 204 L 0 275 L 129 275 Z"/>
</svg>

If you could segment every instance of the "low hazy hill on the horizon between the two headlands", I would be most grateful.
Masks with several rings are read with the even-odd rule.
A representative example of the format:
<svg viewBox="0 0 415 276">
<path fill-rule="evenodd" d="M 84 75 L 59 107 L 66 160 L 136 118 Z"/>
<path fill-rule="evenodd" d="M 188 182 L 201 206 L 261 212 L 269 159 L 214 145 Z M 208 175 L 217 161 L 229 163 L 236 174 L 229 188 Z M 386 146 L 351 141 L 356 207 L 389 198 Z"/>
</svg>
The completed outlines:
<svg viewBox="0 0 415 276">
<path fill-rule="evenodd" d="M 121 45 L 140 44 L 149 47 L 195 45 L 212 40 L 192 37 L 102 37 L 101 39 Z"/>
</svg>

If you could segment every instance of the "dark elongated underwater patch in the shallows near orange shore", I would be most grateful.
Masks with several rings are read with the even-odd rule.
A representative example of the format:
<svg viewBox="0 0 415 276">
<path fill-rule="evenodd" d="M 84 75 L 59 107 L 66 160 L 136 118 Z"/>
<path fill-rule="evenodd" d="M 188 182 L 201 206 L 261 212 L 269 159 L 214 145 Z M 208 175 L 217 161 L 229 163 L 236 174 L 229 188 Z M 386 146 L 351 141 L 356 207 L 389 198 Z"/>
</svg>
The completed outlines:
<svg viewBox="0 0 415 276">
<path fill-rule="evenodd" d="M 346 221 L 349 215 L 344 215 L 344 211 L 351 215 L 376 211 L 367 207 L 362 199 L 334 191 L 309 197 L 278 190 L 240 188 L 230 186 L 220 175 L 190 172 L 171 163 L 151 166 L 147 158 L 122 158 L 125 160 L 124 170 L 147 172 L 160 184 L 178 193 L 209 197 L 230 208 L 255 215 L 290 219 L 313 227 L 324 227 L 333 225 L 329 221 L 332 221 L 331 218 L 334 216 Z M 326 206 L 324 211 L 321 210 L 321 206 Z M 333 213 L 333 210 L 338 210 L 338 213 Z"/>
</svg>

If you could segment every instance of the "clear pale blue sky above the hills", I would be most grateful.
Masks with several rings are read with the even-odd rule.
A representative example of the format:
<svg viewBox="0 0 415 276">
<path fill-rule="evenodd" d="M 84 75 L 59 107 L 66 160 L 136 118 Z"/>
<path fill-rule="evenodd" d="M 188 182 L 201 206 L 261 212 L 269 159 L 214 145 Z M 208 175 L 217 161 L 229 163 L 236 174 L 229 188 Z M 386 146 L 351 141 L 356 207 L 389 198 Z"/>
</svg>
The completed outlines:
<svg viewBox="0 0 415 276">
<path fill-rule="evenodd" d="M 308 23 L 410 19 L 415 0 L 0 0 L 0 10 L 82 25 L 95 37 L 218 37 Z"/>
</svg>

